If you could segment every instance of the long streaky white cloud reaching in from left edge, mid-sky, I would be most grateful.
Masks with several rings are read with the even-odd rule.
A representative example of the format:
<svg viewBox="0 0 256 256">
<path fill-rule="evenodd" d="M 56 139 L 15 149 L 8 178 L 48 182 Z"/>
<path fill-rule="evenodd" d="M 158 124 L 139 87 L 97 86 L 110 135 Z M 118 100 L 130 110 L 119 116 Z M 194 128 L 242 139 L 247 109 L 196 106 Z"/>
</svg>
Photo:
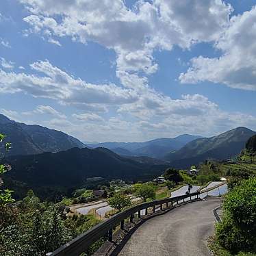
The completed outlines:
<svg viewBox="0 0 256 256">
<path fill-rule="evenodd" d="M 34 97 L 56 99 L 66 105 L 131 103 L 138 97 L 132 90 L 114 84 L 95 85 L 75 79 L 47 60 L 34 62 L 30 66 L 44 76 L 10 73 L 0 69 L 0 92 L 25 92 Z"/>
</svg>

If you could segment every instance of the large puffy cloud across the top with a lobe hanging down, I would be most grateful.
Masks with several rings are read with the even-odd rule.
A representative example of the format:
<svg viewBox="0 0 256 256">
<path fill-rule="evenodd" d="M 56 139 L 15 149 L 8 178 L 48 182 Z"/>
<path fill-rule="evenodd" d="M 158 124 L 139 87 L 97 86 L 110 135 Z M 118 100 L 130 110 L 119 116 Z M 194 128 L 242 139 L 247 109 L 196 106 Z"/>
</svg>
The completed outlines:
<svg viewBox="0 0 256 256">
<path fill-rule="evenodd" d="M 127 73 L 155 73 L 156 49 L 216 40 L 232 11 L 221 0 L 137 1 L 133 9 L 122 0 L 104 0 L 100 5 L 94 0 L 56 0 L 54 5 L 49 0 L 20 1 L 31 12 L 23 18 L 31 25 L 30 32 L 49 38 L 70 36 L 114 49 L 120 79 Z"/>
</svg>

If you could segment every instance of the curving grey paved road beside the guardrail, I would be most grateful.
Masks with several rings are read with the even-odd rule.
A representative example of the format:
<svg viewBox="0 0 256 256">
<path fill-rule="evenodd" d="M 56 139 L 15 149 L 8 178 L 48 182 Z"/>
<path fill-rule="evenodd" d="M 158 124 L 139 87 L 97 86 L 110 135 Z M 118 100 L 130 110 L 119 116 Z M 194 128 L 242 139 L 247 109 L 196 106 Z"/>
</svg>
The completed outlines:
<svg viewBox="0 0 256 256">
<path fill-rule="evenodd" d="M 146 220 L 131 235 L 121 256 L 208 256 L 207 238 L 214 232 L 213 210 L 220 199 L 183 205 Z"/>
</svg>

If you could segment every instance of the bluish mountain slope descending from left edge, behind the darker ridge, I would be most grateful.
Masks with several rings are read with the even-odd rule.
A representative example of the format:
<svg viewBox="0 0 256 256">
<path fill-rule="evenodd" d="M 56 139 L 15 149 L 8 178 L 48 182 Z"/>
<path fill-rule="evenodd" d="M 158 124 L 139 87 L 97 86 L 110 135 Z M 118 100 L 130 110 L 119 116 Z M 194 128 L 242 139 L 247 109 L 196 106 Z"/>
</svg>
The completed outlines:
<svg viewBox="0 0 256 256">
<path fill-rule="evenodd" d="M 0 133 L 7 136 L 12 143 L 8 155 L 30 155 L 42 152 L 57 152 L 85 145 L 62 131 L 48 129 L 40 125 L 25 125 L 10 120 L 0 114 Z M 3 144 L 0 145 L 3 153 Z"/>
</svg>

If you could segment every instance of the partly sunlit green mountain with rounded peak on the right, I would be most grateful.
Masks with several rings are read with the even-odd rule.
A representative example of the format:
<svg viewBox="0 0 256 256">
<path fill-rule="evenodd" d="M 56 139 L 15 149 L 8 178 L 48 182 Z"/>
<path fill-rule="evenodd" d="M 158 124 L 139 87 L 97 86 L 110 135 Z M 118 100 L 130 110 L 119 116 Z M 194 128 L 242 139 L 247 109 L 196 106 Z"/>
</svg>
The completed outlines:
<svg viewBox="0 0 256 256">
<path fill-rule="evenodd" d="M 205 159 L 227 159 L 238 155 L 255 131 L 238 127 L 212 138 L 199 138 L 165 157 L 172 166 L 187 168 Z"/>
</svg>

